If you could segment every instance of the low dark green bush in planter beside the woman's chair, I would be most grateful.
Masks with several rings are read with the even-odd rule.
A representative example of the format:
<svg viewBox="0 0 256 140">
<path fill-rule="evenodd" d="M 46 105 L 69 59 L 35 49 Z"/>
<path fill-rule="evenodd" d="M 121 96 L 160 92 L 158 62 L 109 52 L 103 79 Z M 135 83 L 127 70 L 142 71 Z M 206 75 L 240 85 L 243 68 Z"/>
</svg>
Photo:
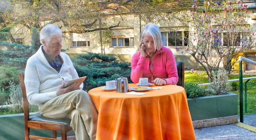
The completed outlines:
<svg viewBox="0 0 256 140">
<path fill-rule="evenodd" d="M 187 98 L 198 98 L 206 95 L 206 91 L 194 82 L 186 82 L 184 88 Z"/>
</svg>

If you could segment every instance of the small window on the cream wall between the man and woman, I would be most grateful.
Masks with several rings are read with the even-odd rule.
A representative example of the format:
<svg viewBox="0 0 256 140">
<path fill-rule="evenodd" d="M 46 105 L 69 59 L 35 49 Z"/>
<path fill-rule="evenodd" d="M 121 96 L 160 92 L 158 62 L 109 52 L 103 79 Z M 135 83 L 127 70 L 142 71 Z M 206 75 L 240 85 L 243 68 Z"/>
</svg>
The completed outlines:
<svg viewBox="0 0 256 140">
<path fill-rule="evenodd" d="M 112 38 L 113 47 L 129 47 L 134 46 L 134 37 L 129 38 Z"/>
</svg>

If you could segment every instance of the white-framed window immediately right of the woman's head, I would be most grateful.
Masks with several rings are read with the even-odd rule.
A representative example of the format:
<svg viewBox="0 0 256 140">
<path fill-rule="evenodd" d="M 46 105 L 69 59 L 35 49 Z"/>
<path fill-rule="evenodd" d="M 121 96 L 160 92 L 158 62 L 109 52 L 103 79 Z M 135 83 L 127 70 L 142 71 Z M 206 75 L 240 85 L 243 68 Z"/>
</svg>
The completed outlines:
<svg viewBox="0 0 256 140">
<path fill-rule="evenodd" d="M 188 46 L 189 31 L 161 32 L 163 46 Z"/>
</svg>

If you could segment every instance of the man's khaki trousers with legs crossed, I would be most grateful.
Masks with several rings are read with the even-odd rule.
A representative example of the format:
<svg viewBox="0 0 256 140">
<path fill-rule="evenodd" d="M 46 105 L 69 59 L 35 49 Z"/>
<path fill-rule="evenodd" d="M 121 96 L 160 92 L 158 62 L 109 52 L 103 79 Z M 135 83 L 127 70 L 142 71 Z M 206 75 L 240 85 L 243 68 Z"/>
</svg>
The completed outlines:
<svg viewBox="0 0 256 140">
<path fill-rule="evenodd" d="M 41 114 L 48 118 L 71 119 L 76 140 L 95 140 L 98 112 L 84 90 L 75 90 L 38 104 Z"/>
</svg>

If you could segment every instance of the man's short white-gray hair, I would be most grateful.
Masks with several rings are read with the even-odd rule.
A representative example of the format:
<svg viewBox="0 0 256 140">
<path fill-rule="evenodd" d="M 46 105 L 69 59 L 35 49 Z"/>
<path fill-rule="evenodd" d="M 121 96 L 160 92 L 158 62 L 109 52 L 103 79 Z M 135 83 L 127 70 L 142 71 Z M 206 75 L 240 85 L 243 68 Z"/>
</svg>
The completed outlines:
<svg viewBox="0 0 256 140">
<path fill-rule="evenodd" d="M 52 36 L 55 36 L 57 34 L 62 34 L 61 29 L 57 25 L 54 25 L 54 24 L 45 25 L 40 32 L 41 44 L 43 44 L 42 39 L 44 39 L 46 43 L 49 43 Z"/>
</svg>

